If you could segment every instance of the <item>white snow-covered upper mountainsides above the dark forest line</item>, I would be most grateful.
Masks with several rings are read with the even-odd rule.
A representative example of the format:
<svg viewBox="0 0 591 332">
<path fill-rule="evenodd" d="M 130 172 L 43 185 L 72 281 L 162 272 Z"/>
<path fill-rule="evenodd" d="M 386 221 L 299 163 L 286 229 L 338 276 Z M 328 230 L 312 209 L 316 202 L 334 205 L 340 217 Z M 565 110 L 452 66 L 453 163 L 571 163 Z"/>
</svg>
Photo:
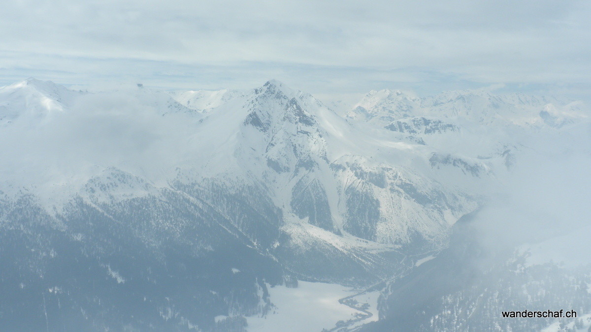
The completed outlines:
<svg viewBox="0 0 591 332">
<path fill-rule="evenodd" d="M 33 193 L 56 213 L 74 194 L 88 196 L 89 181 L 110 169 L 128 173 L 129 183 L 111 185 L 98 200 L 144 196 L 171 181 L 219 178 L 230 187 L 264 185 L 285 223 L 299 224 L 307 220 L 291 203 L 301 181 L 325 191 L 333 227 L 344 235 L 338 241 L 356 241 L 345 229 L 348 193 L 356 191 L 378 202 L 376 242 L 400 245 L 416 232 L 444 243 L 450 225 L 506 181 L 511 162 L 531 149 L 524 142 L 545 132 L 569 138 L 569 123 L 586 119 L 583 109 L 522 95 L 418 98 L 382 90 L 368 93 L 343 118 L 275 80 L 246 92 L 169 95 L 146 88 L 81 93 L 28 79 L 0 88 L 0 194 Z M 384 128 L 417 116 L 460 130 L 410 135 Z M 313 227 L 286 229 L 323 241 L 339 238 L 310 232 Z"/>
</svg>

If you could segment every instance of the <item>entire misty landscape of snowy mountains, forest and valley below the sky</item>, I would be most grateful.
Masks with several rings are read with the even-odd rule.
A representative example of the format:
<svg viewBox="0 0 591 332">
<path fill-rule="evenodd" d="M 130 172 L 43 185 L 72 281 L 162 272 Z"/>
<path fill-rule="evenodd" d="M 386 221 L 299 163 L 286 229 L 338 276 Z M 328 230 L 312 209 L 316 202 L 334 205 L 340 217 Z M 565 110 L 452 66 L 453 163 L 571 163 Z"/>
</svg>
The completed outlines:
<svg viewBox="0 0 591 332">
<path fill-rule="evenodd" d="M 0 313 L 37 308 L 6 327 L 519 330 L 575 322 L 500 311 L 591 313 L 584 103 L 115 85 L 0 89 Z"/>
</svg>

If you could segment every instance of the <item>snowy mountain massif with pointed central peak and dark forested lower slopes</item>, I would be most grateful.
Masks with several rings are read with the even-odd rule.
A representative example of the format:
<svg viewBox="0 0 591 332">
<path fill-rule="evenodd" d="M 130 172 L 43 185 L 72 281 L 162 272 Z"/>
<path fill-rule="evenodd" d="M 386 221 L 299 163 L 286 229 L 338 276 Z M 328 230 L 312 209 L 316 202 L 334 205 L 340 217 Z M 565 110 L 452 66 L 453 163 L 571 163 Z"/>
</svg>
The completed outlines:
<svg viewBox="0 0 591 332">
<path fill-rule="evenodd" d="M 580 103 L 484 92 L 372 91 L 334 110 L 275 80 L 2 87 L 4 327 L 26 311 L 33 330 L 241 330 L 280 310 L 271 287 L 379 284 L 447 248 L 532 137 L 585 121 Z M 345 302 L 358 315 L 340 328 L 371 321 Z"/>
</svg>

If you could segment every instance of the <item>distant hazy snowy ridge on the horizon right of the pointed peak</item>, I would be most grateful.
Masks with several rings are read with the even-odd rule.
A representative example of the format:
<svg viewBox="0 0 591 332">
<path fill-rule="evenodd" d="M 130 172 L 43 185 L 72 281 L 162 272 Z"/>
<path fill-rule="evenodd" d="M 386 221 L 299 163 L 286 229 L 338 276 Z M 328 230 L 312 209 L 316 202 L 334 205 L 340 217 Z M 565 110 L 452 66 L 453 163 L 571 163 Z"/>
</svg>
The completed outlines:
<svg viewBox="0 0 591 332">
<path fill-rule="evenodd" d="M 346 116 L 377 126 L 415 116 L 462 118 L 482 125 L 560 126 L 584 118 L 581 107 L 580 102 L 522 93 L 493 95 L 485 90 L 463 90 L 418 98 L 400 91 L 372 90 Z"/>
</svg>

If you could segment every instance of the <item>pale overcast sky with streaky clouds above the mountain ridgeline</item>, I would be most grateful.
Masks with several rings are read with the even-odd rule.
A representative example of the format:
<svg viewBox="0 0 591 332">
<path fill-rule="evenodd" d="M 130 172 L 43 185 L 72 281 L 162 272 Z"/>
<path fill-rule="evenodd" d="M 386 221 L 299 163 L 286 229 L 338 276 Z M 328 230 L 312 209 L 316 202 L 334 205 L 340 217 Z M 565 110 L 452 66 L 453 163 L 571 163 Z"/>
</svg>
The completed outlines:
<svg viewBox="0 0 591 332">
<path fill-rule="evenodd" d="M 589 95 L 591 1 L 11 0 L 0 85 Z"/>
</svg>

